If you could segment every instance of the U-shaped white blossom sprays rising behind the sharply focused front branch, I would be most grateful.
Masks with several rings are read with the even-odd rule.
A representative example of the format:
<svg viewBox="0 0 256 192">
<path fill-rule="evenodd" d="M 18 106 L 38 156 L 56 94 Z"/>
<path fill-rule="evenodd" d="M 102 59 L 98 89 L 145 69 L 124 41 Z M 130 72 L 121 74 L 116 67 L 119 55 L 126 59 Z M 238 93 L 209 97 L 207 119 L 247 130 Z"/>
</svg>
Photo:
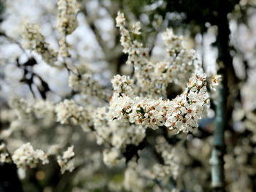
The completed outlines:
<svg viewBox="0 0 256 192">
<path fill-rule="evenodd" d="M 124 14 L 121 12 L 118 12 L 116 26 L 121 31 L 120 41 L 124 47 L 123 52 L 128 53 L 127 64 L 134 65 L 136 80 L 141 91 L 146 95 L 154 98 L 166 96 L 167 85 L 173 81 L 181 88 L 185 88 L 187 80 L 195 72 L 195 67 L 200 66 L 195 50 L 186 50 L 182 46 L 182 37 L 173 35 L 170 29 L 167 29 L 163 35 L 170 57 L 167 61 L 153 64 L 148 59 L 148 49 L 137 40 L 132 40 L 129 30 L 125 27 Z M 140 28 L 138 23 L 135 26 L 137 29 Z M 138 31 L 135 34 L 139 34 Z"/>
</svg>

